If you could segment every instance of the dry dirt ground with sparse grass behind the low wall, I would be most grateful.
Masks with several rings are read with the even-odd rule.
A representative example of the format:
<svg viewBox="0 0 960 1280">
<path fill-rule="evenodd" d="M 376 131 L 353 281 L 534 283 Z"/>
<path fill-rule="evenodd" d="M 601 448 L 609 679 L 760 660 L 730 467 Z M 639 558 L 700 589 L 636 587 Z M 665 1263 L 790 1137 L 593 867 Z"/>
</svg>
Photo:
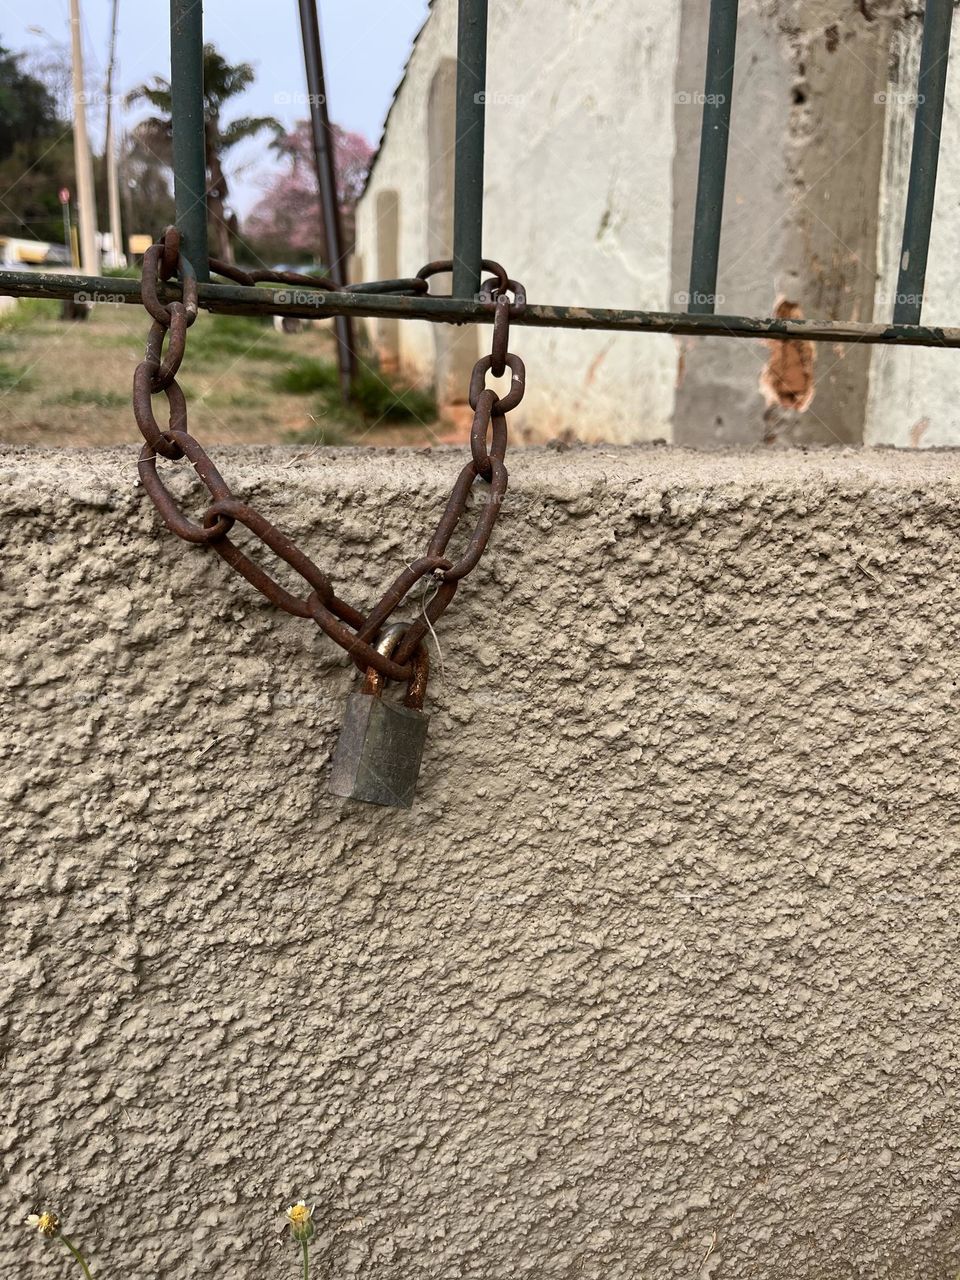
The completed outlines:
<svg viewBox="0 0 960 1280">
<path fill-rule="evenodd" d="M 270 321 L 201 314 L 189 330 L 180 385 L 189 428 L 205 444 L 276 444 L 316 438 L 329 443 L 402 445 L 436 443 L 435 421 L 390 424 L 339 419 L 312 394 L 276 389 L 278 375 L 298 360 L 333 360 L 321 328 L 278 333 Z M 227 328 L 224 325 L 224 328 Z M 239 333 L 237 330 L 241 330 Z M 0 315 L 0 443 L 59 445 L 136 444 L 131 408 L 133 370 L 143 353 L 146 314 L 102 303 L 86 321 L 69 323 L 56 303 L 19 303 Z M 159 421 L 164 401 L 156 402 Z"/>
</svg>

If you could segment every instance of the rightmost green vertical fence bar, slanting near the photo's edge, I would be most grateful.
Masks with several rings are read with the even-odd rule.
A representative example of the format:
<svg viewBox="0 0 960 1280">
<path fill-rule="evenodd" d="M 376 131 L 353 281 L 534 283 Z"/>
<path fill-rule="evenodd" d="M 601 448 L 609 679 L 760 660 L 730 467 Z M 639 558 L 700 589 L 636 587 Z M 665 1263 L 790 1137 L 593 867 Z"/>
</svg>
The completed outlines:
<svg viewBox="0 0 960 1280">
<path fill-rule="evenodd" d="M 919 324 L 923 310 L 952 18 L 954 0 L 927 0 L 893 324 Z"/>
</svg>

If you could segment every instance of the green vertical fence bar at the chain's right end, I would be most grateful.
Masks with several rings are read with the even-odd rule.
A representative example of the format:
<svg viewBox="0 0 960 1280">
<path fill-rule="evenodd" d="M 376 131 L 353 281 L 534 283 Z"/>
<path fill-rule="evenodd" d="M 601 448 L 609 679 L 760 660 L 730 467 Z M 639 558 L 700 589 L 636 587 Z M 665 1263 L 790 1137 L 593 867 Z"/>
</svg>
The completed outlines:
<svg viewBox="0 0 960 1280">
<path fill-rule="evenodd" d="M 480 289 L 484 237 L 486 0 L 460 0 L 457 141 L 453 161 L 453 296 Z"/>
</svg>

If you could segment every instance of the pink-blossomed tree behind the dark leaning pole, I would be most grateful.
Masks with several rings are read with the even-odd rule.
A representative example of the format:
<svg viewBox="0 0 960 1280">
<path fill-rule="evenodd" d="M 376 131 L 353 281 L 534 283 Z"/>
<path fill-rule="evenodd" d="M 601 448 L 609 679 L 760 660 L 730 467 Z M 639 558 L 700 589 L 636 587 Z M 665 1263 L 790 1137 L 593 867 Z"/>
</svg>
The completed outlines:
<svg viewBox="0 0 960 1280">
<path fill-rule="evenodd" d="M 346 244 L 352 244 L 353 210 L 362 195 L 374 152 L 360 133 L 349 133 L 338 124 L 332 128 L 343 236 Z M 260 244 L 264 257 L 329 262 L 310 122 L 301 120 L 291 133 L 278 137 L 273 147 L 285 164 L 270 175 L 262 198 L 247 219 L 247 232 Z"/>
</svg>

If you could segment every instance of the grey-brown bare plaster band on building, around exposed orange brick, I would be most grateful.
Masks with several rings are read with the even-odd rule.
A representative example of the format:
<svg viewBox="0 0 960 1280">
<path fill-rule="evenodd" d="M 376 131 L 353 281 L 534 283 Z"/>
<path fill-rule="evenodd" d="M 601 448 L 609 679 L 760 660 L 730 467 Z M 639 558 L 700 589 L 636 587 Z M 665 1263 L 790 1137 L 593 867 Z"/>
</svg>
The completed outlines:
<svg viewBox="0 0 960 1280">
<path fill-rule="evenodd" d="M 887 78 L 901 3 L 746 0 L 721 247 L 718 311 L 869 321 L 877 280 Z M 707 6 L 684 5 L 677 65 L 673 278 L 686 279 Z M 675 438 L 685 444 L 846 444 L 864 435 L 872 352 L 819 344 L 814 394 L 797 412 L 760 392 L 763 343 L 684 343 Z M 777 353 L 783 348 L 774 348 Z M 803 353 L 801 353 L 803 355 Z M 806 399 L 808 397 L 804 397 Z"/>
</svg>

